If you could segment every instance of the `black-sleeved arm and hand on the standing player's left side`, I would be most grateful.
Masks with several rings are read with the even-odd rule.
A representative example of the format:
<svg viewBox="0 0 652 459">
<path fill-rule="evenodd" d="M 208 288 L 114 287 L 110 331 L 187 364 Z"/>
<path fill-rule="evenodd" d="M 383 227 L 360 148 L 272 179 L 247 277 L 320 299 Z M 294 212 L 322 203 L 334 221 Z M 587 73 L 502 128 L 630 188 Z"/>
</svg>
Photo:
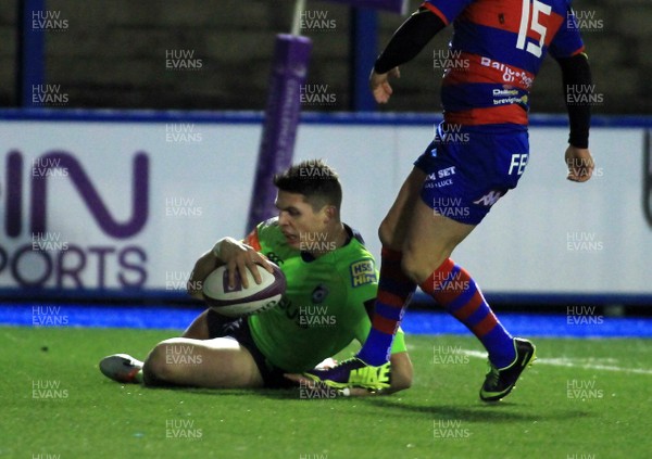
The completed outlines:
<svg viewBox="0 0 652 459">
<path fill-rule="evenodd" d="M 389 77 L 400 77 L 399 65 L 412 61 L 444 27 L 446 23 L 437 14 L 422 7 L 394 31 L 369 76 L 369 87 L 376 102 L 386 103 L 389 100 L 392 93 Z"/>
</svg>

